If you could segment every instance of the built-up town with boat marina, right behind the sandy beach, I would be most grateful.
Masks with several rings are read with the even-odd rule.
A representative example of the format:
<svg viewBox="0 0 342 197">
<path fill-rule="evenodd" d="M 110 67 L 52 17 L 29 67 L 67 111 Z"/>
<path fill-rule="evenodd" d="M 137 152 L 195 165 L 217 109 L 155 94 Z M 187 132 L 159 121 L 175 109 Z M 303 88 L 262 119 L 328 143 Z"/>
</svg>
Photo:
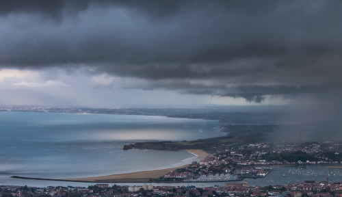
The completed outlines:
<svg viewBox="0 0 342 197">
<path fill-rule="evenodd" d="M 275 165 L 318 165 L 341 163 L 342 144 L 305 142 L 302 144 L 257 143 L 235 146 L 209 155 L 202 161 L 174 170 L 157 182 L 217 182 L 263 178 Z"/>
</svg>

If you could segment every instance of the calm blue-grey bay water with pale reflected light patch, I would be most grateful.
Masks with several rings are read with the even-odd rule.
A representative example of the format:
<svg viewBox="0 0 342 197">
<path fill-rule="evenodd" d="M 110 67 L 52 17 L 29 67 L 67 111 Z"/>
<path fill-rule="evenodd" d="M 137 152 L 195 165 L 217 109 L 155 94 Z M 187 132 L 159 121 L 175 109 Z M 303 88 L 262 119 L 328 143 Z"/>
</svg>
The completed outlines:
<svg viewBox="0 0 342 197">
<path fill-rule="evenodd" d="M 225 135 L 220 126 L 161 116 L 0 112 L 0 185 L 29 182 L 13 175 L 59 179 L 181 166 L 195 155 L 122 146 Z"/>
</svg>

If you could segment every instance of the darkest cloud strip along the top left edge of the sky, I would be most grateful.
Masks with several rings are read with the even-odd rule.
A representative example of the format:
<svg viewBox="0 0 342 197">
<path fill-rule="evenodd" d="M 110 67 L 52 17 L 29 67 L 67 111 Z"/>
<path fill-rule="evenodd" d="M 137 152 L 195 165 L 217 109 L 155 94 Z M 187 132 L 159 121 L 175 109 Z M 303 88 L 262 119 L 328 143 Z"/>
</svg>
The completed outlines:
<svg viewBox="0 0 342 197">
<path fill-rule="evenodd" d="M 81 12 L 89 6 L 100 5 L 102 7 L 115 5 L 138 10 L 150 16 L 168 16 L 177 10 L 181 1 L 116 1 L 116 0 L 18 0 L 18 1 L 0 1 L 0 14 L 8 15 L 11 13 L 27 12 L 33 14 L 42 14 L 52 18 L 59 18 L 63 12 Z"/>
</svg>

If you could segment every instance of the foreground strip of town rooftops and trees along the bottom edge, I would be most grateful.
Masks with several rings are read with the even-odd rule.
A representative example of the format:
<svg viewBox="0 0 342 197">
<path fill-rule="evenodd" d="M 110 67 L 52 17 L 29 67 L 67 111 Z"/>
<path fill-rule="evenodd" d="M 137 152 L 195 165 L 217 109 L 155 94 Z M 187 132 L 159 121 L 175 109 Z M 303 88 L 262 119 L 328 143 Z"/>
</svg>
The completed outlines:
<svg viewBox="0 0 342 197">
<path fill-rule="evenodd" d="M 89 187 L 0 186 L 1 197 L 100 197 L 100 196 L 342 196 L 342 182 L 305 181 L 289 185 L 248 187 L 246 181 L 226 183 L 223 187 L 195 186 L 120 186 L 96 184 Z"/>
</svg>

